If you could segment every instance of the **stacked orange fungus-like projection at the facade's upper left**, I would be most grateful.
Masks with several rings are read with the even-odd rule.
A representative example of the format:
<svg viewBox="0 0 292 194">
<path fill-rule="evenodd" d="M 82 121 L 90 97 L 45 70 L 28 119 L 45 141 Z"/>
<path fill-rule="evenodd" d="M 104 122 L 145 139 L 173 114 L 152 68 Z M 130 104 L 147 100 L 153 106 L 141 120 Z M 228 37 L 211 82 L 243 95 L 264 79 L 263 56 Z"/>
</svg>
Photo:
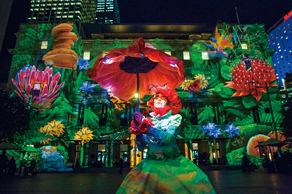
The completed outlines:
<svg viewBox="0 0 292 194">
<path fill-rule="evenodd" d="M 53 50 L 47 52 L 43 56 L 45 63 L 53 65 L 53 67 L 76 69 L 76 63 L 79 59 L 76 52 L 71 50 L 74 42 L 78 40 L 73 30 L 73 22 L 61 23 L 53 30 L 54 45 Z"/>
</svg>

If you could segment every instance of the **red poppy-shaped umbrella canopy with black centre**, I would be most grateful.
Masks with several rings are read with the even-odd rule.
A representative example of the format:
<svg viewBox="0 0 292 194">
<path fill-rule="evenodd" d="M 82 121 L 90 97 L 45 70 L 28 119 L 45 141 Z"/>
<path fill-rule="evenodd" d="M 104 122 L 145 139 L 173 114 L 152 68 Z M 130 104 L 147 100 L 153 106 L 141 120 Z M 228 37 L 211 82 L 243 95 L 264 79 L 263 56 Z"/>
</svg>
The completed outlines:
<svg viewBox="0 0 292 194">
<path fill-rule="evenodd" d="M 111 88 L 111 93 L 123 100 L 134 97 L 137 87 L 139 96 L 144 97 L 149 94 L 149 84 L 163 87 L 167 83 L 168 87 L 177 88 L 185 78 L 183 61 L 145 44 L 143 38 L 138 38 L 127 48 L 104 53 L 108 54 L 99 55 L 87 74 L 102 88 Z"/>
</svg>

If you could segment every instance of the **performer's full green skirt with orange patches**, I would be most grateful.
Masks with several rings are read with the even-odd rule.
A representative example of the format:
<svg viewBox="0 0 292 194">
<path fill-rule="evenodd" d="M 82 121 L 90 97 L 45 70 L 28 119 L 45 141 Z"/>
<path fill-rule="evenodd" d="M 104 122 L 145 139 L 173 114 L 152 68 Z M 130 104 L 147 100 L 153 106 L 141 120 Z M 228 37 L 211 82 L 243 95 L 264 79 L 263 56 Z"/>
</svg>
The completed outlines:
<svg viewBox="0 0 292 194">
<path fill-rule="evenodd" d="M 117 194 L 216 194 L 209 178 L 193 162 L 143 159 L 127 175 Z"/>
</svg>

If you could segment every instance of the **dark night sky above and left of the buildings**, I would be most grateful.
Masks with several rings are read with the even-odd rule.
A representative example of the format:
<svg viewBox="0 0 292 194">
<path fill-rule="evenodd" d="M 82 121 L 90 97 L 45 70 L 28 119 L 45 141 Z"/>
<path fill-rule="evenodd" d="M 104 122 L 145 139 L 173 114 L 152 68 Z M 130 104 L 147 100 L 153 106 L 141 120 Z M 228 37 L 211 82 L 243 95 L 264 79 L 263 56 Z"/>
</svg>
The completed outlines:
<svg viewBox="0 0 292 194">
<path fill-rule="evenodd" d="M 292 10 L 291 0 L 118 0 L 121 23 L 217 24 L 237 23 L 236 3 L 241 24 L 263 23 L 266 30 Z M 0 54 L 0 82 L 6 82 L 19 23 L 25 22 L 30 0 L 14 0 Z"/>
</svg>

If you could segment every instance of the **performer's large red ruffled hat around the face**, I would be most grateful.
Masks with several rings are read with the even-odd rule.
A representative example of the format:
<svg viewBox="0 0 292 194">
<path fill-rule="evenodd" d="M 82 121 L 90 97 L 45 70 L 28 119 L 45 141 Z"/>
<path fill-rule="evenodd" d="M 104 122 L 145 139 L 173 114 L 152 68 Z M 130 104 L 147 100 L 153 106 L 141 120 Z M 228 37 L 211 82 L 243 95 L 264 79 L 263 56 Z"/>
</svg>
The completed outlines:
<svg viewBox="0 0 292 194">
<path fill-rule="evenodd" d="M 161 94 L 167 97 L 168 103 L 167 106 L 165 106 L 165 109 L 172 110 L 172 114 L 177 114 L 182 109 L 182 100 L 174 89 L 168 87 L 167 85 L 164 87 L 157 87 L 156 94 Z M 147 106 L 150 106 L 155 112 L 154 96 L 147 102 Z"/>
</svg>

